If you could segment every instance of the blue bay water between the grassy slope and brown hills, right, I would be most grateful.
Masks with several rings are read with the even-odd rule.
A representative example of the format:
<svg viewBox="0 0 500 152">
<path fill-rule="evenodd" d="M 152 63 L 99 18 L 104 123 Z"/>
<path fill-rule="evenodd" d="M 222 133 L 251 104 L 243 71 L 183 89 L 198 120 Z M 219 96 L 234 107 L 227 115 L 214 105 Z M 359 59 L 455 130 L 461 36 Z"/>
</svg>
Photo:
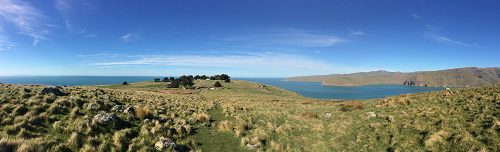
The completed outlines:
<svg viewBox="0 0 500 152">
<path fill-rule="evenodd" d="M 441 87 L 410 87 L 401 85 L 367 85 L 355 87 L 322 86 L 320 82 L 292 82 L 280 78 L 242 78 L 294 91 L 302 96 L 320 99 L 372 99 L 407 93 L 442 90 Z"/>
</svg>

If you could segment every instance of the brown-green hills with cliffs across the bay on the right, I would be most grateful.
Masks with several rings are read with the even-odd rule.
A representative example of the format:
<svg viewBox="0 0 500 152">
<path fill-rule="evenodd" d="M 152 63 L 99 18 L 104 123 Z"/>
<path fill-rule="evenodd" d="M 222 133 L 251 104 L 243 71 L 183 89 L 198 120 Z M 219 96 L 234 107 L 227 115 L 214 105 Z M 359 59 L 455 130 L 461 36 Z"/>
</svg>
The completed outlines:
<svg viewBox="0 0 500 152">
<path fill-rule="evenodd" d="M 500 68 L 466 67 L 411 73 L 371 71 L 351 74 L 331 74 L 286 78 L 288 81 L 321 82 L 326 86 L 362 86 L 400 84 L 429 87 L 477 87 L 500 84 Z"/>
</svg>

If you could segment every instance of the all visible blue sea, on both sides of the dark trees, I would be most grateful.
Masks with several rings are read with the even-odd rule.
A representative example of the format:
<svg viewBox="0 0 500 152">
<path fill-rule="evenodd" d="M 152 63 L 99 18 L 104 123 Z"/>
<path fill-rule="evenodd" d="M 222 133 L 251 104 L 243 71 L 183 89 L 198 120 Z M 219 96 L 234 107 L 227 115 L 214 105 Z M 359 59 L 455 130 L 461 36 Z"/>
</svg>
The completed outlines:
<svg viewBox="0 0 500 152">
<path fill-rule="evenodd" d="M 109 85 L 123 81 L 151 81 L 153 76 L 9 76 L 1 77 L 1 83 L 45 84 L 55 86 Z M 320 99 L 371 99 L 407 93 L 442 90 L 439 87 L 409 87 L 401 85 L 368 85 L 356 87 L 322 86 L 319 82 L 292 82 L 281 78 L 234 78 L 247 80 L 297 92 L 303 96 Z"/>
</svg>

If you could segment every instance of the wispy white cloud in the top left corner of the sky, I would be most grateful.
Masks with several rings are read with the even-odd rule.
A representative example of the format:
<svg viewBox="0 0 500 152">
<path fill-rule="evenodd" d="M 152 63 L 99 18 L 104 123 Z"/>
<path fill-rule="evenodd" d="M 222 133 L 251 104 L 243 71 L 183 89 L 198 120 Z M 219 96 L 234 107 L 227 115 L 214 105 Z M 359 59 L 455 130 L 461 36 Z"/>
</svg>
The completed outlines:
<svg viewBox="0 0 500 152">
<path fill-rule="evenodd" d="M 0 0 L 0 17 L 5 22 L 14 24 L 20 34 L 32 37 L 33 46 L 47 39 L 49 25 L 44 23 L 45 16 L 29 3 Z"/>
</svg>

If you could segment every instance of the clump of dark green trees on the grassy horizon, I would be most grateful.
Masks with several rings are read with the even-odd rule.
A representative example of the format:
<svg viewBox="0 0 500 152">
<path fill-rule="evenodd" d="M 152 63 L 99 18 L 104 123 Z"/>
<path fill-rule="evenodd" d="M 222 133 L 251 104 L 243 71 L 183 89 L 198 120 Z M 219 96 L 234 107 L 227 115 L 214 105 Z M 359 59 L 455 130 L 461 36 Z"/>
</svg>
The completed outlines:
<svg viewBox="0 0 500 152">
<path fill-rule="evenodd" d="M 224 82 L 229 83 L 231 82 L 231 77 L 227 74 L 221 74 L 221 75 L 213 75 L 213 76 L 207 76 L 207 75 L 183 75 L 180 76 L 179 78 L 174 78 L 174 77 L 165 77 L 163 79 L 160 78 L 155 78 L 155 82 L 170 82 L 167 84 L 168 88 L 192 88 L 194 85 L 194 80 L 224 80 Z M 218 83 L 218 84 L 217 84 Z M 221 87 L 222 85 L 220 82 L 216 82 L 214 84 L 214 87 Z"/>
</svg>

